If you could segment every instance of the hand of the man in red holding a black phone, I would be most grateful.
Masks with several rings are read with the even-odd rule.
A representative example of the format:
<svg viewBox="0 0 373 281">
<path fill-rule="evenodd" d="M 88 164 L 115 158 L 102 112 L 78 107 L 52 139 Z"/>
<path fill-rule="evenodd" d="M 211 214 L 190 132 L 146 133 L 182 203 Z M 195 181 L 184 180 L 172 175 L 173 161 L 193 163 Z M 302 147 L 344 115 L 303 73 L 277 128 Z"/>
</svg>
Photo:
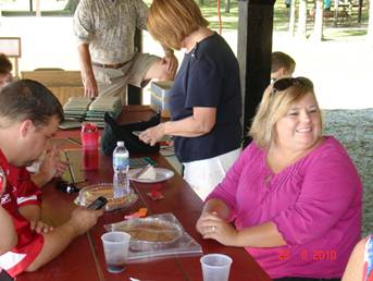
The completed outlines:
<svg viewBox="0 0 373 281">
<path fill-rule="evenodd" d="M 88 210 L 83 207 L 76 208 L 67 224 L 70 224 L 77 235 L 86 233 L 90 228 L 92 228 L 99 217 L 103 215 L 103 209 L 100 210 Z"/>
</svg>

